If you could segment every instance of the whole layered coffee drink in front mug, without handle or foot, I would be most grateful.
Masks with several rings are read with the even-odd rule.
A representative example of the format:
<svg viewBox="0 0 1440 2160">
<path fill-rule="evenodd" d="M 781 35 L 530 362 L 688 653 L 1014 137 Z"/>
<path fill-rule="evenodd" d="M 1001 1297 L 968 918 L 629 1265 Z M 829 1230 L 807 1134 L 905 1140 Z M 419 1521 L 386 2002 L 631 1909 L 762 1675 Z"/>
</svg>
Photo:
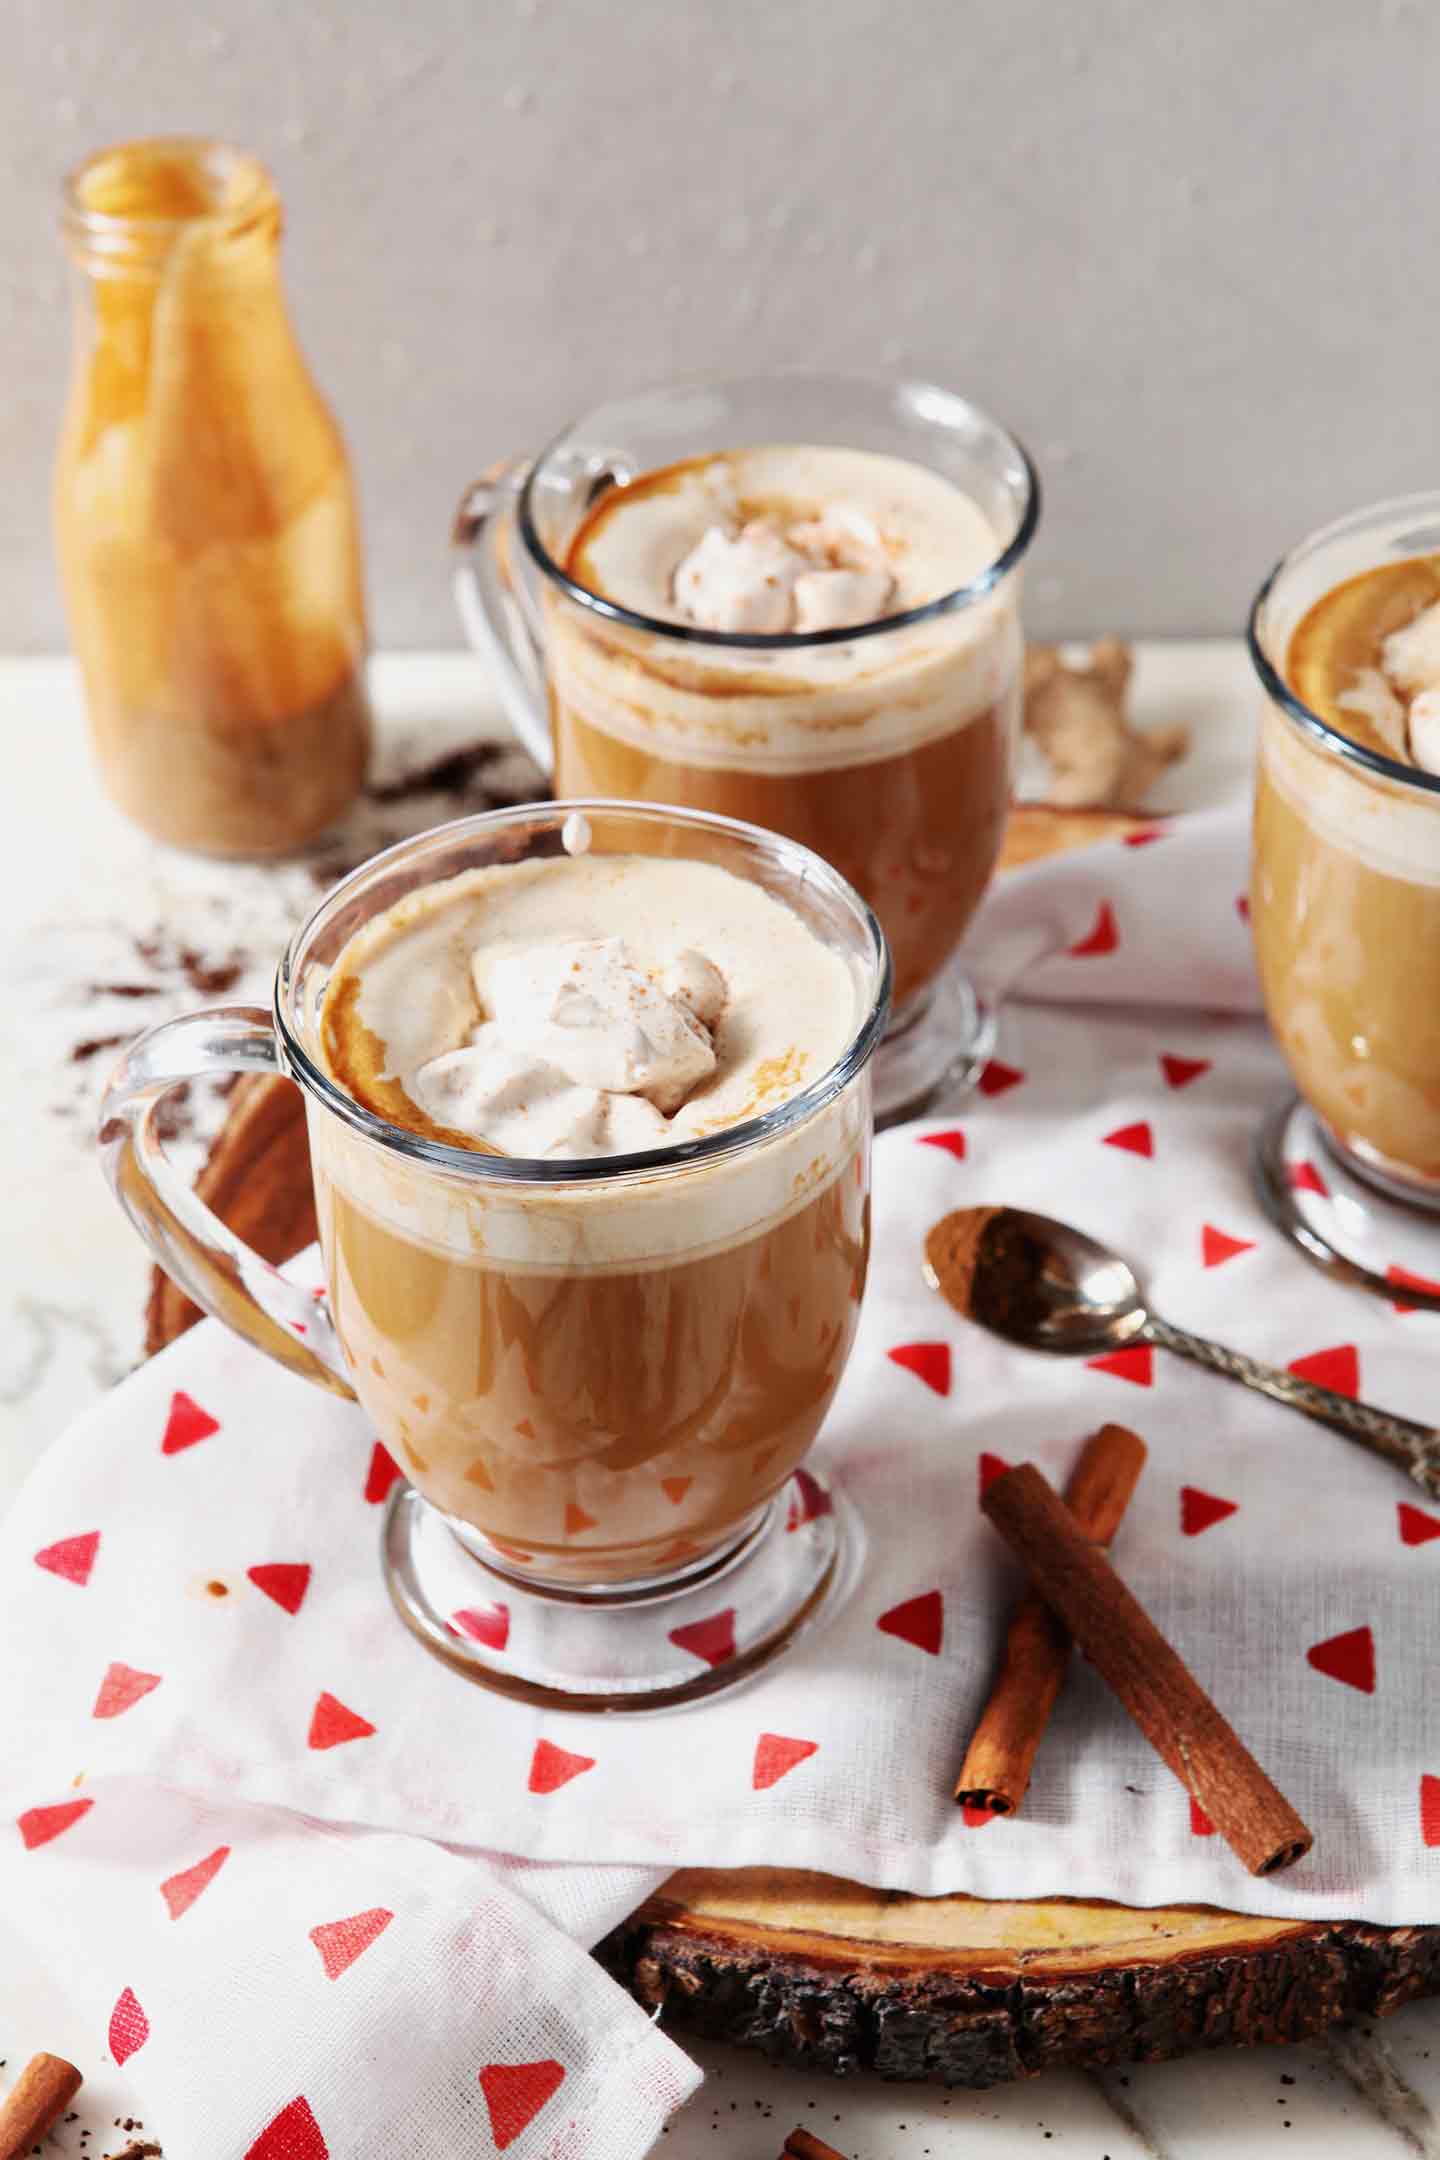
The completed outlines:
<svg viewBox="0 0 1440 2160">
<path fill-rule="evenodd" d="M 516 1577 L 635 1585 L 743 1534 L 840 1380 L 868 1095 L 799 1097 L 870 994 L 751 877 L 589 851 L 576 816 L 566 849 L 408 892 L 330 970 L 330 1078 L 462 1158 L 332 1115 L 311 1156 L 335 1326 L 395 1460 Z"/>
</svg>

